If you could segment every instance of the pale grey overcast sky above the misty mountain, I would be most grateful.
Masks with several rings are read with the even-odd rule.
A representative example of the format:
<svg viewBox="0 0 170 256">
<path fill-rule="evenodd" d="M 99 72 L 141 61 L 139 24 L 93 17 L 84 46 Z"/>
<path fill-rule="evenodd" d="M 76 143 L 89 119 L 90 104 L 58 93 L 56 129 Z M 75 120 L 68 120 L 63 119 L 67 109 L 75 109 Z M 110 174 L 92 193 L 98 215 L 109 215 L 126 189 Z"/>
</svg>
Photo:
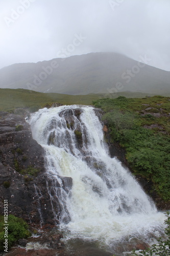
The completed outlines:
<svg viewBox="0 0 170 256">
<path fill-rule="evenodd" d="M 170 71 L 169 0 L 0 0 L 0 68 L 118 52 Z"/>
</svg>

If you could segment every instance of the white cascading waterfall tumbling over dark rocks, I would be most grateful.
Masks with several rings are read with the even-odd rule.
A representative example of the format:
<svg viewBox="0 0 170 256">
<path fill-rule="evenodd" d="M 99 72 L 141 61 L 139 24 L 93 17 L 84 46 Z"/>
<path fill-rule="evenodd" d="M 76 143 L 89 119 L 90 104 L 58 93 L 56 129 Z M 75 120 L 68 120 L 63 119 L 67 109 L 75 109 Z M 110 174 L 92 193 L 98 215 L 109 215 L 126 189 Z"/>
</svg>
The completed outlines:
<svg viewBox="0 0 170 256">
<path fill-rule="evenodd" d="M 92 107 L 45 108 L 29 122 L 33 138 L 46 152 L 47 173 L 59 184 L 62 176 L 72 178 L 71 193 L 56 188 L 60 226 L 69 230 L 68 237 L 111 244 L 133 237 L 151 242 L 151 234 L 159 236 L 164 215 L 129 171 L 109 157 Z"/>
</svg>

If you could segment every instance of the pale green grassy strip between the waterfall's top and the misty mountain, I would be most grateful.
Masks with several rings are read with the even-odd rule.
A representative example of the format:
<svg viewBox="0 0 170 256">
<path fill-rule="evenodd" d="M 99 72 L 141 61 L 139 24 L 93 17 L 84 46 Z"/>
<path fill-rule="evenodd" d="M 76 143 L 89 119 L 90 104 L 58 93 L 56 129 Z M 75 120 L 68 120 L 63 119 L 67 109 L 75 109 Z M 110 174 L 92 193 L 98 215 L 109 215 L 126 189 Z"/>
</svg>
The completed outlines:
<svg viewBox="0 0 170 256">
<path fill-rule="evenodd" d="M 25 89 L 0 89 L 0 111 L 13 111 L 16 108 L 29 108 L 34 112 L 39 108 L 42 108 L 46 103 L 54 102 L 66 105 L 90 105 L 94 100 L 104 97 L 116 98 L 120 95 L 140 98 L 150 94 L 123 92 L 115 94 L 66 95 L 58 93 L 39 93 Z"/>
</svg>

